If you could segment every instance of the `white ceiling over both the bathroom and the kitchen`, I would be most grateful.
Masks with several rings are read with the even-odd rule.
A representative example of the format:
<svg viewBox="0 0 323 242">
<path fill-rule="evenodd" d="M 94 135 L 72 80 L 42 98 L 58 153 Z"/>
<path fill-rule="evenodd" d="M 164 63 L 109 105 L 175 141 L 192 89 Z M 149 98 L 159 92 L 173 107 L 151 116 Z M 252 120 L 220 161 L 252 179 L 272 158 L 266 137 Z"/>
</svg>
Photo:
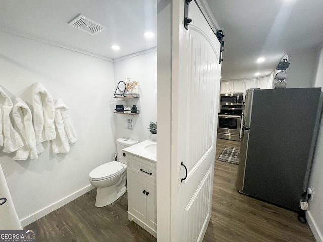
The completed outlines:
<svg viewBox="0 0 323 242">
<path fill-rule="evenodd" d="M 223 80 L 268 75 L 286 53 L 323 43 L 322 0 L 206 1 L 225 34 Z M 157 31 L 156 9 L 157 0 L 0 0 L 0 30 L 116 59 L 157 46 L 143 36 Z M 78 14 L 106 29 L 91 35 L 68 25 Z"/>
</svg>

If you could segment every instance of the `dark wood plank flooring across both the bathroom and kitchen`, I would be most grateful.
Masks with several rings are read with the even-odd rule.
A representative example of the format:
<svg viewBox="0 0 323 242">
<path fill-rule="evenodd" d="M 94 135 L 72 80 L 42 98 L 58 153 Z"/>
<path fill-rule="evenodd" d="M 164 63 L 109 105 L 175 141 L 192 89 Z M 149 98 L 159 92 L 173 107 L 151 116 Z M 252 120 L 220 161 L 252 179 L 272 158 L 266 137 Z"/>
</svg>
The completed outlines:
<svg viewBox="0 0 323 242">
<path fill-rule="evenodd" d="M 240 142 L 217 139 L 216 158 L 225 146 Z M 235 181 L 237 165 L 216 161 L 212 217 L 204 242 L 315 241 L 307 224 L 295 212 L 242 195 Z M 127 214 L 127 193 L 111 205 L 96 208 L 96 189 L 29 224 L 37 241 L 156 241 Z M 174 241 L 176 242 L 176 241 Z"/>
</svg>

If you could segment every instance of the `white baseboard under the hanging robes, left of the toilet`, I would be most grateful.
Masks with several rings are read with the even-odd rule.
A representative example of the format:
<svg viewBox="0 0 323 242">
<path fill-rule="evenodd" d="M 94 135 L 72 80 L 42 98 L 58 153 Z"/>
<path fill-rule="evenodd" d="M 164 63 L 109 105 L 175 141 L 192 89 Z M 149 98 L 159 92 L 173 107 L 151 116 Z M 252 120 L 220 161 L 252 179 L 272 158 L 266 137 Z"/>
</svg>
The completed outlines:
<svg viewBox="0 0 323 242">
<path fill-rule="evenodd" d="M 93 188 L 94 187 L 92 185 L 87 185 L 86 187 L 76 191 L 75 193 L 72 193 L 69 196 L 49 205 L 48 207 L 45 207 L 45 208 L 39 210 L 38 212 L 21 219 L 20 220 L 21 226 L 25 227 L 25 226 L 35 222 L 39 218 L 42 218 L 43 216 L 51 213 L 52 211 L 55 211 L 56 209 L 62 207 L 63 205 L 68 204 L 69 202 L 73 201 L 74 199 L 78 198 L 79 196 L 82 196 L 83 194 L 91 191 Z"/>
</svg>

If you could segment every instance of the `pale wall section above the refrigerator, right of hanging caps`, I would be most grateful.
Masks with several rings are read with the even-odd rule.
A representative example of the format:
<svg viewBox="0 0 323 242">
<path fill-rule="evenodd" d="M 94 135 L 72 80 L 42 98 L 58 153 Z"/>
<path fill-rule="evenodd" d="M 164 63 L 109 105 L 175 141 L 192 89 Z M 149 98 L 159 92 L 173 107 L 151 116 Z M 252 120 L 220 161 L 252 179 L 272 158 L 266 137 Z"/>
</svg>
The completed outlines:
<svg viewBox="0 0 323 242">
<path fill-rule="evenodd" d="M 288 53 L 286 88 L 312 87 L 315 79 L 317 49 Z"/>
</svg>

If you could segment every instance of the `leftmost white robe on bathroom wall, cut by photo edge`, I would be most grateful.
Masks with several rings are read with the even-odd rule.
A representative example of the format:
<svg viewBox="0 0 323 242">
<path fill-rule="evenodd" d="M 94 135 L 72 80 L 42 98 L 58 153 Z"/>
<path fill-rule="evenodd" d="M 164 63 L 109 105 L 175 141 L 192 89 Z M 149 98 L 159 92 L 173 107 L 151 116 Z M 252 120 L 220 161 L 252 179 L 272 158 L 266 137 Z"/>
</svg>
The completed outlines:
<svg viewBox="0 0 323 242">
<path fill-rule="evenodd" d="M 20 135 L 14 130 L 11 124 L 9 114 L 12 107 L 11 99 L 0 87 L 1 126 L 3 128 L 1 136 L 3 136 L 3 152 L 6 153 L 14 152 L 24 145 Z"/>
</svg>

